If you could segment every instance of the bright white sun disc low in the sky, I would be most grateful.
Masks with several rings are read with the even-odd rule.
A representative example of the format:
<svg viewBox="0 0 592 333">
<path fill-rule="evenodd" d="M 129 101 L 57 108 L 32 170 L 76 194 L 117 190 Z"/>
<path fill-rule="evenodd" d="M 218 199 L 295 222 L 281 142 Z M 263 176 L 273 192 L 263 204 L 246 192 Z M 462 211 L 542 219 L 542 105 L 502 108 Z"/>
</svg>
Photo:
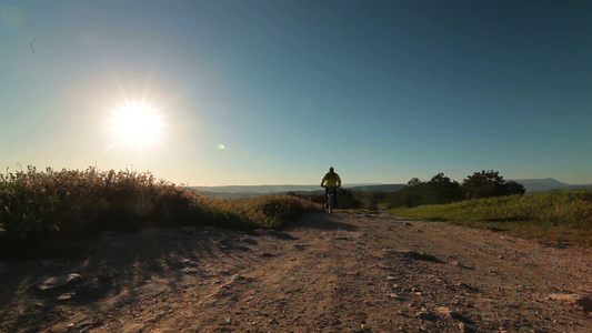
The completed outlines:
<svg viewBox="0 0 592 333">
<path fill-rule="evenodd" d="M 112 110 L 109 128 L 114 144 L 130 149 L 148 148 L 160 143 L 163 119 L 149 103 L 127 101 Z"/>
</svg>

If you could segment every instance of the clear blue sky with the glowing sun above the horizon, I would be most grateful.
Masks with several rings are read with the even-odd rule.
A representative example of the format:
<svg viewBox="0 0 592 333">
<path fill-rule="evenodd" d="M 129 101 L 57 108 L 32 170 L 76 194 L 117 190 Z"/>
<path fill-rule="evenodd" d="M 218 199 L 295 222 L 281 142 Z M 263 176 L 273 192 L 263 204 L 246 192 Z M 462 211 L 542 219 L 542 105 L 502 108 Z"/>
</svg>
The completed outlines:
<svg viewBox="0 0 592 333">
<path fill-rule="evenodd" d="M 0 0 L 0 169 L 592 183 L 592 1 Z"/>
</svg>

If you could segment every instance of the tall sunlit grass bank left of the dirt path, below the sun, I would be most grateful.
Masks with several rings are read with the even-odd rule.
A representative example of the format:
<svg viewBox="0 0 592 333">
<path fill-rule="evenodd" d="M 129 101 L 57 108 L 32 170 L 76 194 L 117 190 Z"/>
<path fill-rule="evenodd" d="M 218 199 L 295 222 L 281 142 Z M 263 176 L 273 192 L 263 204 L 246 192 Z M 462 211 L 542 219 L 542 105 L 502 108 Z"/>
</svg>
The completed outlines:
<svg viewBox="0 0 592 333">
<path fill-rule="evenodd" d="M 312 209 L 312 203 L 288 195 L 213 200 L 149 172 L 39 172 L 29 167 L 0 174 L 0 258 L 77 251 L 86 238 L 107 230 L 280 228 Z"/>
</svg>

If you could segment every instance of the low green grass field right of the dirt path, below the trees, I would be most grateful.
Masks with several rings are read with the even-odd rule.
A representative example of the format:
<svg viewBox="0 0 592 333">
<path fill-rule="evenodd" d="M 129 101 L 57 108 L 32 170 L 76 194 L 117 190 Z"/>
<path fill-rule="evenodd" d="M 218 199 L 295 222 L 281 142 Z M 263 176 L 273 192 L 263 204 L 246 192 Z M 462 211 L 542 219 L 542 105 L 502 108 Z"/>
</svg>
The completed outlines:
<svg viewBox="0 0 592 333">
<path fill-rule="evenodd" d="M 592 245 L 592 192 L 589 190 L 394 209 L 391 214 L 505 231 L 544 243 Z"/>
</svg>

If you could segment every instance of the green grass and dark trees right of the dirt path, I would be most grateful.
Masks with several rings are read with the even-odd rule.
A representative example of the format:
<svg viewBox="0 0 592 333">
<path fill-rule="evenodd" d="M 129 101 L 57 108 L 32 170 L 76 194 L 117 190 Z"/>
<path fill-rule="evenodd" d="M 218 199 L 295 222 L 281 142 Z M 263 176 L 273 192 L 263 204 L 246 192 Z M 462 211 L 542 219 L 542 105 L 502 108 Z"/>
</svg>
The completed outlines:
<svg viewBox="0 0 592 333">
<path fill-rule="evenodd" d="M 397 192 L 344 190 L 340 208 L 390 210 L 397 216 L 443 221 L 535 239 L 542 243 L 592 246 L 592 191 L 525 193 L 498 171 L 483 170 L 462 183 L 438 173 L 429 181 L 411 179 Z M 319 198 L 308 198 L 313 201 Z"/>
</svg>

